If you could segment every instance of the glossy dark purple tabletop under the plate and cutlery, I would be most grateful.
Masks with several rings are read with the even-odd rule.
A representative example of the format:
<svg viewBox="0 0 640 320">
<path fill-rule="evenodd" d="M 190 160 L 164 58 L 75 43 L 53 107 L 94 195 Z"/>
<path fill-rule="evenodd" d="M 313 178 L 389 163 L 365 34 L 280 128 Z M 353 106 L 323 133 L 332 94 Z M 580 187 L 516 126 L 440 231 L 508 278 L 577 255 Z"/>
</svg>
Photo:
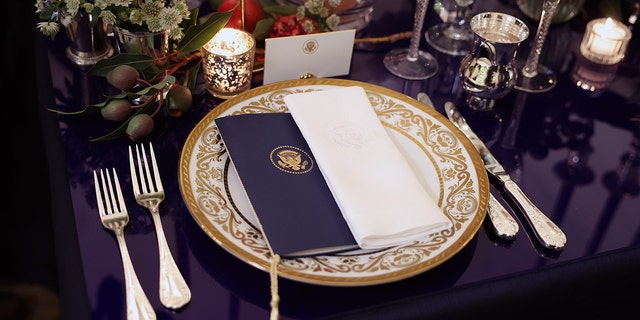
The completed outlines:
<svg viewBox="0 0 640 320">
<path fill-rule="evenodd" d="M 531 36 L 518 56 L 525 59 L 529 50 L 526 42 L 533 38 L 537 21 L 526 19 L 515 5 L 505 4 L 507 1 L 477 2 L 475 12 L 507 12 L 529 25 Z M 373 21 L 359 36 L 410 30 L 413 5 L 413 1 L 377 1 Z M 430 8 L 425 26 L 439 21 Z M 498 307 L 514 310 L 528 306 L 531 301 L 526 301 L 533 296 L 541 303 L 536 310 L 577 304 L 573 299 L 562 300 L 569 293 L 589 296 L 593 298 L 590 302 L 606 305 L 611 303 L 607 290 L 615 291 L 619 284 L 637 284 L 639 277 L 630 276 L 634 273 L 629 270 L 640 270 L 639 35 L 636 30 L 629 55 L 614 70 L 609 86 L 590 92 L 572 79 L 572 73 L 586 63 L 578 50 L 585 26 L 578 16 L 550 28 L 540 62 L 556 72 L 558 84 L 554 89 L 536 94 L 513 90 L 496 102 L 493 111 L 466 107 L 457 78 L 460 57 L 438 53 L 426 43 L 421 48 L 439 61 L 438 74 L 428 80 L 405 81 L 384 68 L 385 53 L 392 47 L 407 46 L 407 41 L 356 45 L 351 73 L 341 77 L 377 84 L 413 98 L 424 91 L 440 112 L 444 111 L 444 102 L 456 102 L 514 181 L 566 233 L 564 250 L 540 248 L 529 237 L 530 228 L 522 223 L 514 241 L 501 241 L 485 221 L 458 254 L 409 279 L 365 287 L 280 279 L 282 318 L 455 318 L 463 310 L 476 316 L 492 315 L 501 313 L 495 309 Z M 63 37 L 47 45 L 51 72 L 45 76 L 51 75 L 51 97 L 55 99 L 51 104 L 71 111 L 100 102 L 107 88 L 104 79 L 88 76 L 87 69 L 65 57 Z M 600 71 L 590 70 L 596 76 Z M 229 254 L 203 232 L 179 190 L 178 161 L 183 144 L 195 124 L 221 102 L 200 83 L 189 112 L 180 118 L 159 118 L 150 137 L 167 193 L 160 207 L 167 242 L 192 290 L 191 302 L 181 310 L 171 311 L 160 304 L 153 222 L 132 196 L 126 197 L 131 215 L 126 230 L 129 252 L 159 319 L 269 317 L 268 273 Z M 69 197 L 69 210 L 59 213 L 66 225 L 58 223 L 67 241 L 56 243 L 58 259 L 69 259 L 69 269 L 61 271 L 68 277 L 67 284 L 60 284 L 62 303 L 77 311 L 79 319 L 88 317 L 82 312 L 90 312 L 94 319 L 124 319 L 122 262 L 115 237 L 102 227 L 98 217 L 92 170 L 115 167 L 122 172 L 123 192 L 133 195 L 130 178 L 124 174 L 129 170 L 127 147 L 131 142 L 124 138 L 90 142 L 90 138 L 113 129 L 98 117 L 62 116 L 58 120 L 59 127 L 54 129 L 59 130 L 48 134 L 61 136 L 61 144 L 49 146 L 49 152 L 63 156 L 61 176 L 68 179 L 55 191 Z M 492 187 L 492 193 L 502 199 L 500 188 Z M 514 213 L 524 221 L 519 212 Z M 596 292 L 596 284 L 603 283 L 611 283 L 613 288 Z"/>
</svg>

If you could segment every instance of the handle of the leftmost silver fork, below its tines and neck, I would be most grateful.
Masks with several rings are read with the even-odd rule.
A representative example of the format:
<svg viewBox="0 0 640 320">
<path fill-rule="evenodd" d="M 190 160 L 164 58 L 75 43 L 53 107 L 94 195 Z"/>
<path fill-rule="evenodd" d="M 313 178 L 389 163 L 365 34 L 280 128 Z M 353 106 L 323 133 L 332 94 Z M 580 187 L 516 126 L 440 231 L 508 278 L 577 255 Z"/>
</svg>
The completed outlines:
<svg viewBox="0 0 640 320">
<path fill-rule="evenodd" d="M 126 283 L 126 296 L 127 296 L 127 319 L 128 320 L 155 320 L 156 313 L 149 303 L 149 299 L 144 294 L 138 276 L 133 269 L 131 258 L 129 257 L 129 250 L 124 240 L 124 234 L 122 232 L 116 233 L 116 239 L 118 239 L 118 247 L 120 248 L 120 255 L 122 256 L 122 264 L 124 267 L 124 281 Z"/>
</svg>

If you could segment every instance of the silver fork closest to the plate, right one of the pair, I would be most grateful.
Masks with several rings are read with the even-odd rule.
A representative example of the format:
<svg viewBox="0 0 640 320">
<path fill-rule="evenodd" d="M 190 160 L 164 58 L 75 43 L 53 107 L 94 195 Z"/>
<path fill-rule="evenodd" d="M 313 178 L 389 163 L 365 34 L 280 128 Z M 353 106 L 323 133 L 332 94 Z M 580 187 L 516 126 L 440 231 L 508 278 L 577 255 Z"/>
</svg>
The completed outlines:
<svg viewBox="0 0 640 320">
<path fill-rule="evenodd" d="M 171 256 L 171 251 L 169 250 L 162 229 L 158 207 L 164 200 L 164 188 L 162 187 L 162 181 L 158 173 L 156 156 L 151 143 L 149 143 L 151 164 L 147 160 L 144 145 L 136 145 L 135 149 L 137 161 L 134 161 L 133 152 L 131 146 L 129 146 L 131 183 L 133 184 L 133 193 L 136 201 L 138 201 L 141 206 L 149 209 L 153 217 L 153 224 L 156 228 L 160 253 L 160 301 L 167 308 L 177 309 L 191 300 L 191 290 L 189 290 L 187 283 L 173 260 L 173 256 Z M 150 167 L 153 169 L 153 176 Z"/>
</svg>

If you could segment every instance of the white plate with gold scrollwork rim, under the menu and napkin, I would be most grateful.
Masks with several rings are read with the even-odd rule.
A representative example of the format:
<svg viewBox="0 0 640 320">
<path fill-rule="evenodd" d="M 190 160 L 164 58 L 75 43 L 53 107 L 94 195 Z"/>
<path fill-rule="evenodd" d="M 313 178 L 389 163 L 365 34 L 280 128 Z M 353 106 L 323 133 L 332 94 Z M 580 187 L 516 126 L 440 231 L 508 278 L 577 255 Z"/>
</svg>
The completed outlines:
<svg viewBox="0 0 640 320">
<path fill-rule="evenodd" d="M 187 208 L 217 244 L 268 272 L 269 249 L 214 120 L 245 113 L 288 112 L 284 96 L 340 86 L 365 89 L 387 132 L 453 227 L 384 250 L 282 259 L 278 274 L 320 285 L 364 286 L 405 279 L 440 265 L 458 253 L 482 225 L 489 197 L 482 159 L 444 116 L 404 94 L 368 83 L 324 78 L 283 81 L 218 105 L 194 127 L 182 149 L 178 178 Z"/>
</svg>

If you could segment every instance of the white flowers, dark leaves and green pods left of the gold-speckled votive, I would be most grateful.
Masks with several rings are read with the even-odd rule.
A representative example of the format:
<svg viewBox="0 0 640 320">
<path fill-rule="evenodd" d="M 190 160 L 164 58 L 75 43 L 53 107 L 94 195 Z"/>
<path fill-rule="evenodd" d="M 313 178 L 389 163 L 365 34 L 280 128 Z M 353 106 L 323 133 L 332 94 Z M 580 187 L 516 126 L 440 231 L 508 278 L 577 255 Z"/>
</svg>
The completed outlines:
<svg viewBox="0 0 640 320">
<path fill-rule="evenodd" d="M 105 95 L 98 104 L 63 115 L 99 112 L 120 125 L 93 140 L 127 136 L 137 140 L 149 135 L 158 113 L 179 117 L 192 103 L 196 75 L 200 68 L 199 49 L 224 27 L 231 12 L 215 13 L 198 20 L 198 8 L 189 9 L 184 0 L 36 0 L 37 24 L 45 35 L 55 37 L 81 10 L 114 26 L 130 31 L 169 30 L 172 40 L 167 54 L 120 53 L 98 61 L 88 73 L 106 77 L 116 94 Z"/>
</svg>

